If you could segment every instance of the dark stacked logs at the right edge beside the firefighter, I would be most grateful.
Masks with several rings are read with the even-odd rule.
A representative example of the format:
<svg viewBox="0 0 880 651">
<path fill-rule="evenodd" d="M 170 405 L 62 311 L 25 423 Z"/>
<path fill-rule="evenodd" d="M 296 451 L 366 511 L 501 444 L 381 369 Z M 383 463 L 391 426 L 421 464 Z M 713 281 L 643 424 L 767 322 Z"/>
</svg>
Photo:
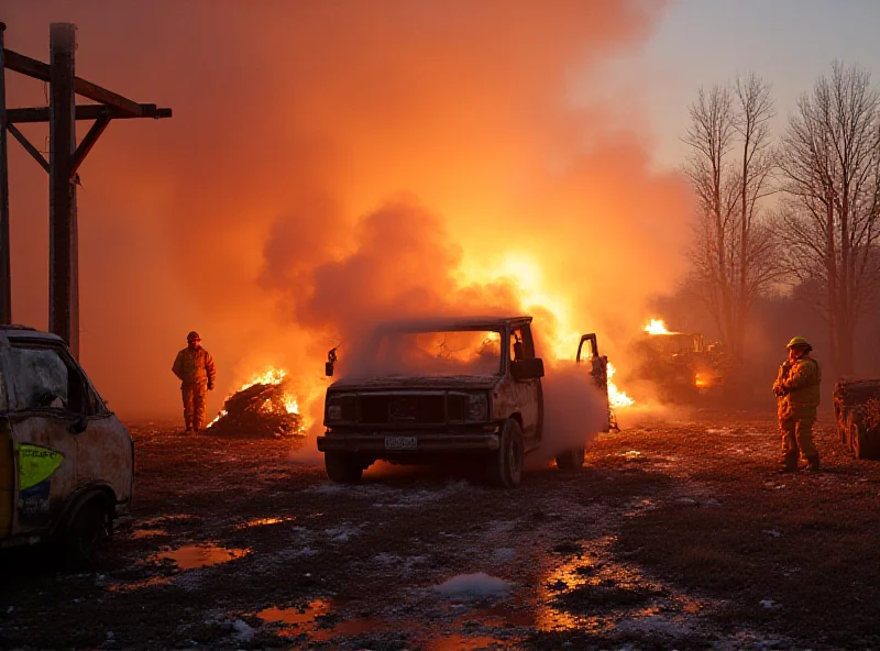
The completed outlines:
<svg viewBox="0 0 880 651">
<path fill-rule="evenodd" d="M 840 442 L 858 459 L 880 459 L 880 379 L 834 385 L 834 417 Z"/>
</svg>

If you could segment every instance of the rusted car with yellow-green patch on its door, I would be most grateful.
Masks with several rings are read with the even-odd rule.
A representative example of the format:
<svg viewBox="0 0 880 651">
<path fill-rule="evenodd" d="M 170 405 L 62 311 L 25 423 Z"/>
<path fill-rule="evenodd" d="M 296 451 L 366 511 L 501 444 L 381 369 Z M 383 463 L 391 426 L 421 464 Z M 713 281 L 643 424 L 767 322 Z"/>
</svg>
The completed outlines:
<svg viewBox="0 0 880 651">
<path fill-rule="evenodd" d="M 0 327 L 0 547 L 96 560 L 132 498 L 134 444 L 64 341 Z"/>
</svg>

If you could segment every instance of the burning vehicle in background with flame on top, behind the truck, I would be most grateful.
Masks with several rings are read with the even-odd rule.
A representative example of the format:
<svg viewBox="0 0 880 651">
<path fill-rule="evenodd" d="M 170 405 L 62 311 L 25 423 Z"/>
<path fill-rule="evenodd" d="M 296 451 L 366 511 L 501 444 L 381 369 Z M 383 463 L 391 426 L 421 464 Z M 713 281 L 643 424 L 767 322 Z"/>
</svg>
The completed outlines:
<svg viewBox="0 0 880 651">
<path fill-rule="evenodd" d="M 724 386 L 724 349 L 718 342 L 706 345 L 700 333 L 672 332 L 662 320 L 651 319 L 632 347 L 635 373 L 653 384 L 663 399 L 698 400 Z"/>
</svg>

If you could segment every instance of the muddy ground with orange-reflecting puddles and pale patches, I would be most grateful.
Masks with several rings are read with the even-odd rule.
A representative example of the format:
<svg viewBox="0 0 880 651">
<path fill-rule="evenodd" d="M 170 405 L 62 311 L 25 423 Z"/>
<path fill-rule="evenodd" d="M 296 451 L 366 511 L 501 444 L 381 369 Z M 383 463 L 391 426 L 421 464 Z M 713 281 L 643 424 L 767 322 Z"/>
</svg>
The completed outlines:
<svg viewBox="0 0 880 651">
<path fill-rule="evenodd" d="M 95 572 L 0 559 L 0 647 L 880 648 L 880 462 L 831 419 L 815 476 L 774 471 L 772 413 L 703 413 L 509 492 L 131 429 L 133 518 Z"/>
</svg>

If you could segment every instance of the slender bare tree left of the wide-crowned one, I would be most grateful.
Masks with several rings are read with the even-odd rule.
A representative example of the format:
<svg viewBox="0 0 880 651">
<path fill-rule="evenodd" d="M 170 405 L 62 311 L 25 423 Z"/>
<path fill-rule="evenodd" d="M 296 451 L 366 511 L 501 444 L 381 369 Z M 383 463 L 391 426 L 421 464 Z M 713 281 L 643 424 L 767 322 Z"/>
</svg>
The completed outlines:
<svg viewBox="0 0 880 651">
<path fill-rule="evenodd" d="M 698 200 L 694 284 L 736 356 L 755 299 L 778 271 L 773 233 L 761 214 L 772 170 L 770 87 L 752 74 L 733 89 L 700 88 L 690 117 L 685 173 Z"/>
</svg>

